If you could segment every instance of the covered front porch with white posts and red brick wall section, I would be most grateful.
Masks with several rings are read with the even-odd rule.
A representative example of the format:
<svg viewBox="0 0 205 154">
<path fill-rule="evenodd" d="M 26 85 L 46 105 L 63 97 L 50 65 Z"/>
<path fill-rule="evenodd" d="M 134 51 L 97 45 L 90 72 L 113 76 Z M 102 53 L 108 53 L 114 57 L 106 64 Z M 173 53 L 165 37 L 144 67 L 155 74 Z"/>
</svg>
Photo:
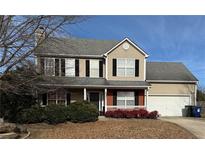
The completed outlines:
<svg viewBox="0 0 205 154">
<path fill-rule="evenodd" d="M 115 109 L 146 108 L 148 88 L 51 88 L 41 95 L 41 105 L 69 105 L 79 101 L 94 103 L 100 114 Z"/>
</svg>

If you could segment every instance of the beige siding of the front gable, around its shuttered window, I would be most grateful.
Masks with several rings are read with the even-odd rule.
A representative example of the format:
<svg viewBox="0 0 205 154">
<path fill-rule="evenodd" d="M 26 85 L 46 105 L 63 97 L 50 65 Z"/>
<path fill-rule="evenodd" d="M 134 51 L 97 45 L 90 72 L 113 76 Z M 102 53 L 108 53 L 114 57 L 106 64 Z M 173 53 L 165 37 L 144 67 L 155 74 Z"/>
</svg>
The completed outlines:
<svg viewBox="0 0 205 154">
<path fill-rule="evenodd" d="M 125 43 L 125 42 L 124 42 Z M 129 43 L 126 41 L 126 43 Z M 108 54 L 107 57 L 107 68 L 108 68 L 108 80 L 144 80 L 144 59 L 145 56 L 138 51 L 135 47 L 133 47 L 129 43 L 129 49 L 124 50 L 123 49 L 123 43 L 118 46 L 116 49 L 114 49 L 112 52 Z M 118 77 L 118 76 L 113 76 L 112 75 L 112 59 L 117 59 L 117 58 L 134 58 L 134 59 L 139 59 L 139 77 Z"/>
</svg>

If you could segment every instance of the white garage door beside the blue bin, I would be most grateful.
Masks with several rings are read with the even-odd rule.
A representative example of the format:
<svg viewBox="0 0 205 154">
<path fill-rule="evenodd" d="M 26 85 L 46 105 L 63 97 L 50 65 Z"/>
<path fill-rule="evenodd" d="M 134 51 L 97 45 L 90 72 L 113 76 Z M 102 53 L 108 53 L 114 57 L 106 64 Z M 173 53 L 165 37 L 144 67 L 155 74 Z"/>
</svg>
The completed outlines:
<svg viewBox="0 0 205 154">
<path fill-rule="evenodd" d="M 161 116 L 182 116 L 185 105 L 190 104 L 190 96 L 148 96 L 148 111 L 157 110 Z"/>
</svg>

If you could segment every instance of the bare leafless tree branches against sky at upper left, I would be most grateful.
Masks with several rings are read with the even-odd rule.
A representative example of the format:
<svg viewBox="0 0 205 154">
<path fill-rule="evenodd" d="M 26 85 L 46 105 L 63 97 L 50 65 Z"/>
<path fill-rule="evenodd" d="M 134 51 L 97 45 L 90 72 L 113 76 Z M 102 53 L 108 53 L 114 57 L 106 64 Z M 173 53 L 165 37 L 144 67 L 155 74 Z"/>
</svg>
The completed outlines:
<svg viewBox="0 0 205 154">
<path fill-rule="evenodd" d="M 0 16 L 0 79 L 19 63 L 27 62 L 49 36 L 82 19 L 80 16 Z M 42 28 L 45 36 L 36 36 L 36 31 Z"/>
</svg>

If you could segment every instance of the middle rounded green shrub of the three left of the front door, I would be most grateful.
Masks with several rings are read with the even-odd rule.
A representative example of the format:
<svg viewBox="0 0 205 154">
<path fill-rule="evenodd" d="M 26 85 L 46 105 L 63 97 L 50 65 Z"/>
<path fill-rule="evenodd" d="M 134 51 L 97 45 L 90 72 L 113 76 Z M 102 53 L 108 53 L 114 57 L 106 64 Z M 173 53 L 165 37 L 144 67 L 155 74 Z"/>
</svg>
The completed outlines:
<svg viewBox="0 0 205 154">
<path fill-rule="evenodd" d="M 44 109 L 45 122 L 49 124 L 63 123 L 69 120 L 68 107 L 63 105 L 50 105 Z"/>
</svg>

